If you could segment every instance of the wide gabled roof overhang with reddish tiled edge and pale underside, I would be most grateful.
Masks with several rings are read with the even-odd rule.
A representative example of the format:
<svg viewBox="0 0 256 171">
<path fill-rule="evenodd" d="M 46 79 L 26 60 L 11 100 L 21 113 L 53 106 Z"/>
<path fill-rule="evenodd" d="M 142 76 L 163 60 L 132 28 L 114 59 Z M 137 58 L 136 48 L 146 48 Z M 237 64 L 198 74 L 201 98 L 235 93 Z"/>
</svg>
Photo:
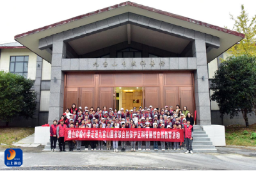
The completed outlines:
<svg viewBox="0 0 256 171">
<path fill-rule="evenodd" d="M 51 54 L 49 54 L 47 50 L 40 50 L 38 48 L 40 39 L 127 12 L 136 13 L 138 15 L 211 34 L 212 36 L 220 38 L 220 48 L 212 48 L 212 50 L 207 52 L 208 63 L 244 38 L 244 34 L 237 33 L 236 31 L 230 31 L 222 27 L 213 26 L 205 22 L 200 22 L 198 20 L 189 19 L 187 17 L 128 1 L 108 8 L 103 8 L 102 10 L 93 11 L 92 13 L 86 13 L 85 15 L 80 15 L 72 19 L 63 20 L 27 33 L 19 34 L 15 36 L 15 40 L 51 63 Z"/>
</svg>

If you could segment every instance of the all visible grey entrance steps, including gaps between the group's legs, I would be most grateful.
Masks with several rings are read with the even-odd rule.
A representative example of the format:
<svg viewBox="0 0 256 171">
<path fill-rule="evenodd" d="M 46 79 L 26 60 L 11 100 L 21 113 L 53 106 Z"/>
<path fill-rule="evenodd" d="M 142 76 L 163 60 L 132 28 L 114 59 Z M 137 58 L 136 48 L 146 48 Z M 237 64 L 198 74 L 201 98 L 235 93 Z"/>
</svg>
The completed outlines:
<svg viewBox="0 0 256 171">
<path fill-rule="evenodd" d="M 111 144 L 111 151 L 113 151 L 113 144 Z M 167 145 L 166 149 L 167 149 Z M 68 144 L 66 142 L 66 151 L 68 151 Z M 199 125 L 195 125 L 194 126 L 194 137 L 193 137 L 193 152 L 205 152 L 205 153 L 213 153 L 213 152 L 217 152 L 217 149 L 215 148 L 214 145 L 212 145 L 212 142 L 210 140 L 210 138 L 208 138 L 208 135 L 205 133 L 205 131 L 203 131 L 203 128 L 201 128 Z M 81 146 L 81 151 L 84 150 L 84 146 Z M 143 151 L 145 151 L 145 142 L 142 143 L 142 149 L 144 149 Z M 97 151 L 98 151 L 98 147 L 96 147 Z M 130 144 L 127 142 L 127 146 L 125 147 L 126 151 L 131 151 L 131 146 Z M 58 146 L 58 141 L 56 144 L 56 150 L 59 150 L 59 146 Z M 89 151 L 91 150 L 91 147 L 89 145 Z M 51 144 L 50 142 L 47 142 L 47 145 L 45 145 L 45 149 L 44 151 L 51 151 Z M 76 151 L 76 145 L 74 146 L 74 151 Z M 106 146 L 103 146 L 103 151 L 107 151 L 106 150 Z M 102 152 L 103 152 L 102 151 Z M 118 151 L 121 151 L 121 146 L 120 146 L 120 142 L 118 144 Z M 138 151 L 138 146 L 136 145 L 136 151 Z M 169 150 L 169 151 L 164 151 L 164 152 L 175 152 L 175 153 L 179 153 L 179 152 L 185 152 L 186 151 L 186 147 L 185 150 Z M 146 151 L 145 151 L 146 152 Z M 154 152 L 154 146 L 153 146 L 153 142 L 150 143 L 150 152 Z M 158 145 L 158 152 L 162 152 L 161 151 L 161 144 L 159 142 Z"/>
</svg>

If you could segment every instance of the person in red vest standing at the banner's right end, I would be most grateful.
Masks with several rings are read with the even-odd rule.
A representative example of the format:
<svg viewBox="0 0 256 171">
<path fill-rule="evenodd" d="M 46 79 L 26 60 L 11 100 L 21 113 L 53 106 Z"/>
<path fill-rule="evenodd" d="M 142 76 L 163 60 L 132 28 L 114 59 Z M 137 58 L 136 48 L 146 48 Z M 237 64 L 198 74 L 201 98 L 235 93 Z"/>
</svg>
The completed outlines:
<svg viewBox="0 0 256 171">
<path fill-rule="evenodd" d="M 184 133 L 185 133 L 185 144 L 187 147 L 187 150 L 185 153 L 191 153 L 192 151 L 192 140 L 193 140 L 193 126 L 190 124 L 190 121 L 187 121 L 187 125 L 184 125 Z"/>
</svg>

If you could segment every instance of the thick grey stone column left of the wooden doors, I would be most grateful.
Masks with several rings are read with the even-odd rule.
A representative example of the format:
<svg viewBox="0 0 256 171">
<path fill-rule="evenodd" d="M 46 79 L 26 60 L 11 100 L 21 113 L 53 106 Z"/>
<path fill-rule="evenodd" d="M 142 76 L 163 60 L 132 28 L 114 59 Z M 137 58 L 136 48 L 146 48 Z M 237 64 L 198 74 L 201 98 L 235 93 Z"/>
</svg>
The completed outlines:
<svg viewBox="0 0 256 171">
<path fill-rule="evenodd" d="M 66 58 L 66 43 L 63 33 L 54 34 L 52 43 L 51 88 L 48 123 L 60 119 L 64 103 L 64 73 L 61 71 L 62 59 Z"/>
</svg>

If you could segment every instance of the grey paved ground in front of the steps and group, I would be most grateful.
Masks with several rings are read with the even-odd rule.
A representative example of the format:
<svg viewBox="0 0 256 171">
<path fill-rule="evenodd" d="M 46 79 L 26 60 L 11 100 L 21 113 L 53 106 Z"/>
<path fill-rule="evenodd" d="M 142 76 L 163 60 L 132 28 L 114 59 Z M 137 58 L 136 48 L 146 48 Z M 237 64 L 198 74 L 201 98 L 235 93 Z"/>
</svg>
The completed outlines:
<svg viewBox="0 0 256 171">
<path fill-rule="evenodd" d="M 22 148 L 22 167 L 4 165 L 0 170 L 256 170 L 255 149 L 218 147 L 216 154 L 164 152 L 43 152 L 43 146 Z M 62 157 L 60 158 L 60 154 Z M 150 168 L 148 168 L 150 167 Z"/>
</svg>

